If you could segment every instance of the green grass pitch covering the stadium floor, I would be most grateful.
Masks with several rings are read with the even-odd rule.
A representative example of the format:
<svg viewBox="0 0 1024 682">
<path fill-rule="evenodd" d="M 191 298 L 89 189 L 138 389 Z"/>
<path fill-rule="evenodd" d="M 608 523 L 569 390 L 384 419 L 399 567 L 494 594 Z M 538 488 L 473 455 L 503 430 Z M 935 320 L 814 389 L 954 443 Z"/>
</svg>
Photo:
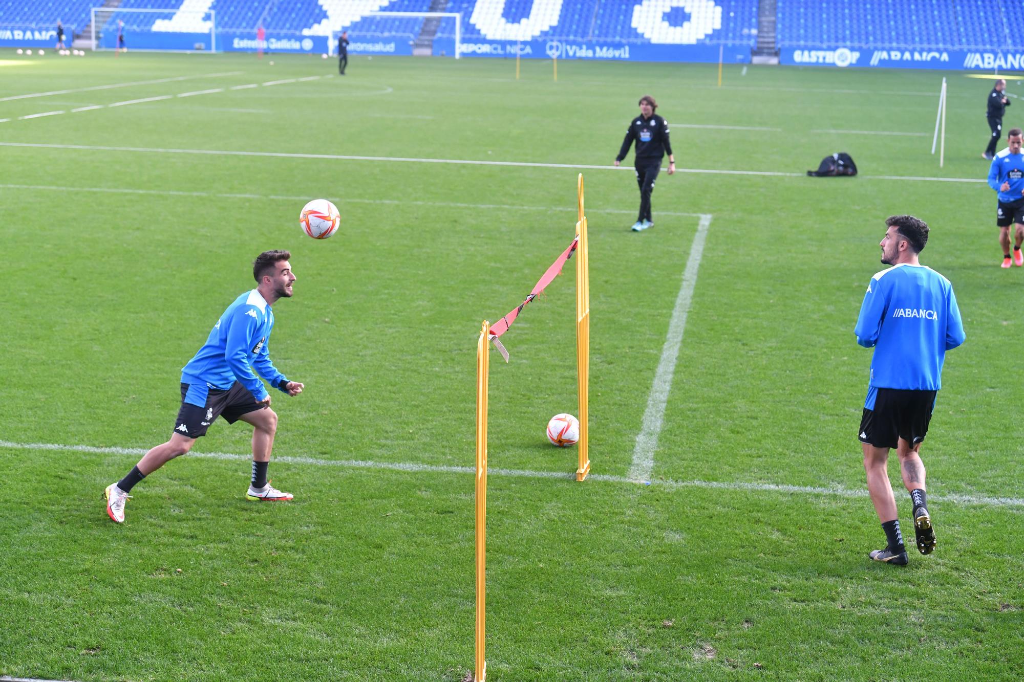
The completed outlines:
<svg viewBox="0 0 1024 682">
<path fill-rule="evenodd" d="M 557 83 L 541 61 L 519 81 L 507 60 L 335 68 L 0 52 L 0 675 L 472 669 L 473 477 L 451 468 L 473 465 L 476 337 L 571 241 L 580 171 L 408 161 L 435 159 L 607 167 L 583 170 L 592 478 L 489 477 L 488 679 L 1019 679 L 1024 268 L 999 269 L 993 193 L 967 181 L 988 168 L 990 81 L 944 74 L 939 169 L 935 72 L 727 67 L 718 88 L 715 66 L 563 61 Z M 680 172 L 633 233 L 636 183 L 610 166 L 648 92 Z M 859 177 L 802 176 L 839 151 Z M 343 216 L 326 242 L 297 225 L 318 197 Z M 904 569 L 866 558 L 884 537 L 852 334 L 896 213 L 932 226 L 922 260 L 968 335 L 923 449 L 939 545 Z M 626 482 L 700 215 L 652 482 Z M 168 437 L 180 368 L 271 248 L 298 278 L 270 343 L 306 384 L 273 392 L 274 455 L 295 460 L 270 475 L 295 502 L 245 501 L 250 432 L 219 422 L 112 523 L 103 487 Z M 544 436 L 577 407 L 573 263 L 503 337 L 511 363 L 494 354 L 494 468 L 575 467 Z"/>
</svg>

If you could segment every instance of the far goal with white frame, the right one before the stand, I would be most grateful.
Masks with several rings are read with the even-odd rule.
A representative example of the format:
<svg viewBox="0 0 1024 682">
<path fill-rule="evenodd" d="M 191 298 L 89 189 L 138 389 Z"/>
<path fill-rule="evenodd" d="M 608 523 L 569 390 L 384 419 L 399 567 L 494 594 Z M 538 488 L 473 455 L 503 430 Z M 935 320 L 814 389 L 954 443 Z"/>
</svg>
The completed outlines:
<svg viewBox="0 0 1024 682">
<path fill-rule="evenodd" d="M 321 27 L 313 27 L 309 33 Z M 349 54 L 414 54 L 459 58 L 462 14 L 456 12 L 370 12 L 342 30 L 329 31 L 328 52 L 348 32 Z M 307 33 L 303 31 L 303 33 Z"/>
</svg>

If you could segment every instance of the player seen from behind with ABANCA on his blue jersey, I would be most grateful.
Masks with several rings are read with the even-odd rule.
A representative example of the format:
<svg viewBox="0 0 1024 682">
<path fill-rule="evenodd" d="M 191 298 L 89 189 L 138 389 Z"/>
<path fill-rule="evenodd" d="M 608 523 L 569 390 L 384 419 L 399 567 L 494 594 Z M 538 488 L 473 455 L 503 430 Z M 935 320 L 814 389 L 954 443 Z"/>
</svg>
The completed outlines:
<svg viewBox="0 0 1024 682">
<path fill-rule="evenodd" d="M 931 554 L 935 530 L 925 495 L 921 443 L 940 387 L 947 350 L 964 343 L 964 325 L 949 280 L 918 262 L 928 243 L 928 225 L 909 215 L 886 219 L 882 262 L 892 267 L 867 283 L 854 334 L 874 348 L 867 399 L 860 420 L 867 491 L 888 545 L 868 556 L 899 565 L 907 562 L 896 499 L 889 481 L 889 451 L 896 449 L 903 484 L 913 504 L 918 550 Z"/>
</svg>

